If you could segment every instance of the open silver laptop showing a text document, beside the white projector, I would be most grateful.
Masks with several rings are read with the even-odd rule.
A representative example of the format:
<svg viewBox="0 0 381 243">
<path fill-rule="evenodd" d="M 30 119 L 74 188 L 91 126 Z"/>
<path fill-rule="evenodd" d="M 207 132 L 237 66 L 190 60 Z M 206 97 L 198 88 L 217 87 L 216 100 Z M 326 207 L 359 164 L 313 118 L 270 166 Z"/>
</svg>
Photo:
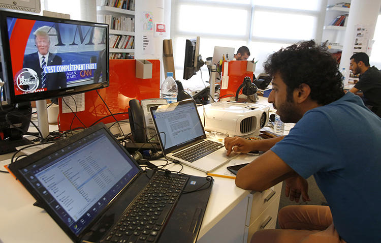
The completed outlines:
<svg viewBox="0 0 381 243">
<path fill-rule="evenodd" d="M 178 160 L 195 169 L 210 172 L 236 156 L 234 153 L 227 156 L 224 144 L 215 141 L 213 143 L 217 144 L 218 149 L 212 153 L 205 152 L 205 145 L 201 144 L 211 140 L 206 138 L 193 99 L 150 107 L 150 111 L 156 132 L 159 134 L 160 145 L 168 158 Z M 196 160 L 195 158 L 183 159 L 182 152 L 189 148 L 201 150 Z"/>
</svg>

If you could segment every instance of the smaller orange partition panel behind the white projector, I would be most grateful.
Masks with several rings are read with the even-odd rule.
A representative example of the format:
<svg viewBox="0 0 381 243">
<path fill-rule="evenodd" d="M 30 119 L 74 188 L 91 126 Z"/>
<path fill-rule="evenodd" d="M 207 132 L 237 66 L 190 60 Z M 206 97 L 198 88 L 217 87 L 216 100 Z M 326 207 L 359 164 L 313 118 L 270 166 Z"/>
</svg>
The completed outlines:
<svg viewBox="0 0 381 243">
<path fill-rule="evenodd" d="M 235 96 L 239 85 L 242 84 L 244 77 L 250 77 L 252 81 L 252 72 L 246 71 L 247 62 L 240 60 L 231 60 L 228 62 L 228 84 L 221 81 L 220 98 Z M 224 73 L 225 62 L 221 73 Z M 224 88 L 227 87 L 227 88 Z M 239 94 L 242 94 L 242 90 Z"/>
</svg>

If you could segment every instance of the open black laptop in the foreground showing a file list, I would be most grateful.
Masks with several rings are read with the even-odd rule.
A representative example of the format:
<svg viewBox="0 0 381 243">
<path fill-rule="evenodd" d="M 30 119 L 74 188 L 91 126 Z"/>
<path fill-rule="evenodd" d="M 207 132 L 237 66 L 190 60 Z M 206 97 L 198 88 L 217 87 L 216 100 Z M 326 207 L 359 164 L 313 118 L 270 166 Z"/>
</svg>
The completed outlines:
<svg viewBox="0 0 381 243">
<path fill-rule="evenodd" d="M 213 184 L 142 170 L 103 124 L 9 169 L 75 242 L 196 242 Z"/>
</svg>

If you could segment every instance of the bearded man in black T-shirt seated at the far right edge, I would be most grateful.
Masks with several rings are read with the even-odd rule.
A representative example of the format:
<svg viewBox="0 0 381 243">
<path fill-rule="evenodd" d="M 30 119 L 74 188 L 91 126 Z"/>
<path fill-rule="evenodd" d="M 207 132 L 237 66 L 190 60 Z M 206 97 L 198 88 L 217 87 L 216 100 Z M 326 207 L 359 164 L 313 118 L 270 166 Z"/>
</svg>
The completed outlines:
<svg viewBox="0 0 381 243">
<path fill-rule="evenodd" d="M 360 74 L 359 81 L 350 92 L 363 98 L 365 105 L 381 117 L 381 72 L 369 65 L 369 56 L 359 52 L 351 56 L 350 70 Z M 362 93 L 358 93 L 362 91 Z"/>
</svg>

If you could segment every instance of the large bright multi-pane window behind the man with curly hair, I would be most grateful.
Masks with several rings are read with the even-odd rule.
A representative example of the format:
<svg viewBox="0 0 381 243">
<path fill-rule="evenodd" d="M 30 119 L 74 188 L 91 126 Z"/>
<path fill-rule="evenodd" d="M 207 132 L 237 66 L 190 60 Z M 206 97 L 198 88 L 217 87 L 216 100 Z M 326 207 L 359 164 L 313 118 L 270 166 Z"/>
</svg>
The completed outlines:
<svg viewBox="0 0 381 243">
<path fill-rule="evenodd" d="M 324 3 L 323 3 L 324 2 Z M 182 79 L 185 39 L 200 36 L 203 60 L 213 55 L 214 46 L 250 49 L 249 59 L 258 60 L 256 74 L 263 72 L 267 56 L 301 40 L 321 40 L 325 11 L 322 0 L 172 0 L 171 39 L 177 79 Z M 320 39 L 319 39 L 320 38 Z M 209 79 L 206 66 L 204 81 Z M 200 80 L 191 78 L 186 82 Z M 196 86 L 202 87 L 203 84 Z"/>
</svg>

